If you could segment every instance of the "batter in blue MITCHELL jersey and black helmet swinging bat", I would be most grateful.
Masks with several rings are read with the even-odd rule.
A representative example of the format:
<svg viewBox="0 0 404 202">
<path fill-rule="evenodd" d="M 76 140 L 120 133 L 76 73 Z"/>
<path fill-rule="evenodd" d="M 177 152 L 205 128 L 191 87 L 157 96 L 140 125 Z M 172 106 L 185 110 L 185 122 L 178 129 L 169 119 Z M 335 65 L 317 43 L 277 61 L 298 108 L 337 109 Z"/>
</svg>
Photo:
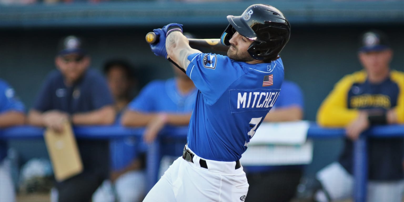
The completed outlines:
<svg viewBox="0 0 404 202">
<path fill-rule="evenodd" d="M 278 56 L 290 25 L 275 7 L 249 6 L 221 37 L 227 56 L 192 49 L 182 25 L 154 29 L 151 50 L 176 63 L 198 88 L 183 156 L 173 162 L 144 202 L 236 202 L 248 191 L 242 153 L 269 109 L 284 78 Z M 158 96 L 158 95 L 156 95 Z"/>
</svg>

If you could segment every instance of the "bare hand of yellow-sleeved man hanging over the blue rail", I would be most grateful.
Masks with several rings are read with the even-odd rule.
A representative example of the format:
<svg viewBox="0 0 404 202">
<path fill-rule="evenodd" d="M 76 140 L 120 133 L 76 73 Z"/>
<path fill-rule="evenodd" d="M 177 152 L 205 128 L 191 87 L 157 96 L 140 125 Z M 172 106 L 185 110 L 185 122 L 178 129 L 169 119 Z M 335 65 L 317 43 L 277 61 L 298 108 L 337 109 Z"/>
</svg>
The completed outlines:
<svg viewBox="0 0 404 202">
<path fill-rule="evenodd" d="M 345 128 L 346 135 L 351 140 L 357 140 L 359 135 L 370 126 L 367 112 L 360 112 L 358 118 Z"/>
</svg>

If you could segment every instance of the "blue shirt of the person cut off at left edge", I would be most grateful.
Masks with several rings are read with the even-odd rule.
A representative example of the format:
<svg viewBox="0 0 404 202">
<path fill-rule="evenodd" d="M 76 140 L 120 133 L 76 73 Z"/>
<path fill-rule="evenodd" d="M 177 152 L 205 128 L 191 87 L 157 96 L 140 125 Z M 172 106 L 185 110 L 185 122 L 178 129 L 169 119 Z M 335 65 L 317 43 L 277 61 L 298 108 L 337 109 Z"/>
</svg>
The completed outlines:
<svg viewBox="0 0 404 202">
<path fill-rule="evenodd" d="M 7 82 L 0 79 L 0 114 L 17 111 L 24 112 L 24 104 L 15 96 L 14 89 Z M 6 156 L 6 150 L 0 148 L 0 163 Z"/>
</svg>

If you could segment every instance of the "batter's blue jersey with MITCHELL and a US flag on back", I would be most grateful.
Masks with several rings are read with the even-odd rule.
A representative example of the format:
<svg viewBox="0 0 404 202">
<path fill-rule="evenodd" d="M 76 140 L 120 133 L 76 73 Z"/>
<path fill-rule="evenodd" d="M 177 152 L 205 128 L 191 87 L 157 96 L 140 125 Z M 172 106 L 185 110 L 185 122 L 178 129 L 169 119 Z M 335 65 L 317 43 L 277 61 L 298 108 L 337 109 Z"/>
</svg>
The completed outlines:
<svg viewBox="0 0 404 202">
<path fill-rule="evenodd" d="M 187 75 L 198 88 L 188 147 L 205 159 L 239 160 L 279 96 L 282 60 L 248 64 L 206 53 L 188 60 Z"/>
</svg>

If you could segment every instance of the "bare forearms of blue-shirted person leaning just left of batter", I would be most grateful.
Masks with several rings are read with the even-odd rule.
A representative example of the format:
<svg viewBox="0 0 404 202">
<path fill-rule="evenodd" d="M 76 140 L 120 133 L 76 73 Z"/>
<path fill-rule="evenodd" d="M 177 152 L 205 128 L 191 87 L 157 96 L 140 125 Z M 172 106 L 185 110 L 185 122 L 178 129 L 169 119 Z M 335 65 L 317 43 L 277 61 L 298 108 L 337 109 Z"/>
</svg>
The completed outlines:
<svg viewBox="0 0 404 202">
<path fill-rule="evenodd" d="M 142 113 L 133 110 L 126 110 L 122 115 L 121 123 L 124 126 L 141 127 L 147 126 L 150 122 L 163 119 L 164 124 L 173 126 L 184 126 L 189 124 L 191 113 L 168 114 L 168 113 Z"/>
</svg>

